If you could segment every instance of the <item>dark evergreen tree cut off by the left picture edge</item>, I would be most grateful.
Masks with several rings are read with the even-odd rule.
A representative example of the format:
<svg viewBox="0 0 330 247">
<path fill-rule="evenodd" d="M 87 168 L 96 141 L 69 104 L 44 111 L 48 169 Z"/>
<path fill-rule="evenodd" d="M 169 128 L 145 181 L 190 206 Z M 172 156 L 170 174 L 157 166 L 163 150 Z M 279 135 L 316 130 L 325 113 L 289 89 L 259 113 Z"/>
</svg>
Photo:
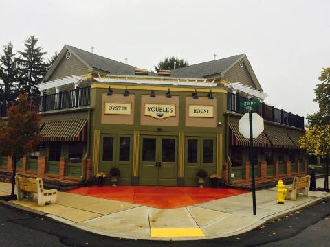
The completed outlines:
<svg viewBox="0 0 330 247">
<path fill-rule="evenodd" d="M 3 54 L 0 56 L 0 79 L 2 80 L 2 97 L 0 100 L 12 100 L 16 96 L 14 87 L 17 86 L 19 67 L 17 65 L 17 54 L 13 52 L 12 43 L 3 46 Z"/>
</svg>

